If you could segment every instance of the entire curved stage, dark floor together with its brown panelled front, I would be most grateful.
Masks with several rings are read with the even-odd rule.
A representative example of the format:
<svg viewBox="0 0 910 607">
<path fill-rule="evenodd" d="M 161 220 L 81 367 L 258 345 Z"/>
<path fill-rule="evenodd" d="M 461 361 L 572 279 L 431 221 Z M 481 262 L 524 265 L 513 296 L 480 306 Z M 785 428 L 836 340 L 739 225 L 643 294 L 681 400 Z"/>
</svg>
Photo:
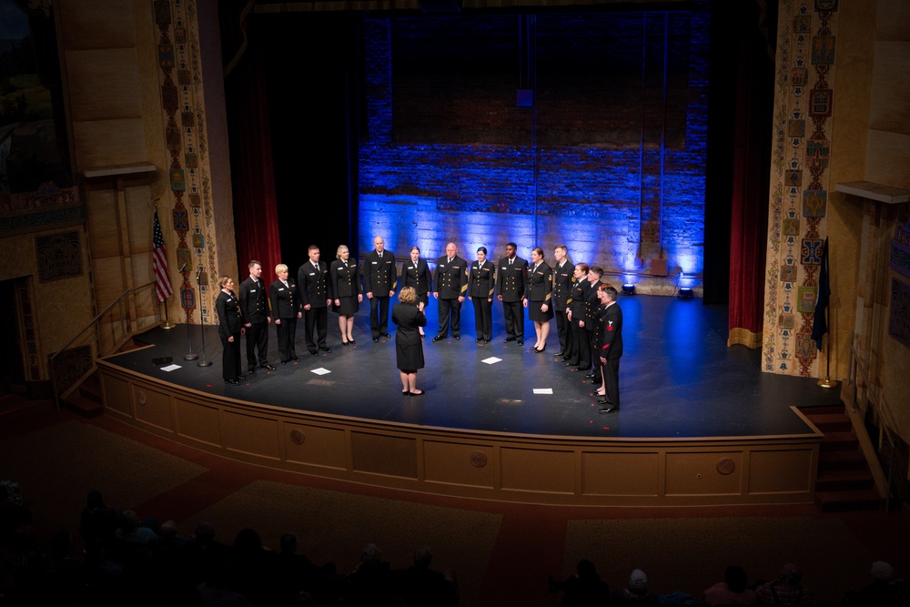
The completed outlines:
<svg viewBox="0 0 910 607">
<path fill-rule="evenodd" d="M 821 435 L 795 408 L 836 404 L 837 391 L 763 373 L 761 351 L 728 348 L 725 306 L 644 295 L 619 304 L 622 408 L 614 413 L 599 414 L 591 384 L 552 356 L 555 321 L 538 354 L 528 321 L 523 348 L 503 343 L 494 304 L 494 339 L 478 345 L 466 301 L 460 341 L 434 343 L 434 300 L 424 396 L 401 395 L 394 325 L 391 339 L 373 342 L 365 304 L 356 346 L 341 346 L 329 313 L 332 352 L 311 356 L 301 322 L 299 362 L 278 364 L 272 332 L 269 361 L 278 369 L 259 369 L 239 386 L 221 379 L 215 327 L 148 331 L 136 338 L 147 348 L 100 362 L 106 410 L 228 457 L 418 491 L 560 503 L 811 501 Z M 199 351 L 203 334 L 209 367 L 184 360 L 189 338 Z M 159 357 L 179 368 L 157 366 Z M 565 477 L 566 467 L 575 470 L 568 480 L 546 474 Z"/>
</svg>

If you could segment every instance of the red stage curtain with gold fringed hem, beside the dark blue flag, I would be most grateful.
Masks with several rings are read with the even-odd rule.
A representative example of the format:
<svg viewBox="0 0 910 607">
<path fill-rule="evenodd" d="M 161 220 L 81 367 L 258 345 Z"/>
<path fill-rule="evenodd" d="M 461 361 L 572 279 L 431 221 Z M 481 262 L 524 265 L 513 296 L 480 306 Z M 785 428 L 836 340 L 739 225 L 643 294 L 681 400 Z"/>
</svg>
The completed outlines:
<svg viewBox="0 0 910 607">
<path fill-rule="evenodd" d="M 753 12 L 754 11 L 754 12 Z M 730 225 L 730 333 L 727 345 L 762 345 L 768 184 L 773 138 L 774 62 L 755 7 L 743 11 Z"/>
</svg>

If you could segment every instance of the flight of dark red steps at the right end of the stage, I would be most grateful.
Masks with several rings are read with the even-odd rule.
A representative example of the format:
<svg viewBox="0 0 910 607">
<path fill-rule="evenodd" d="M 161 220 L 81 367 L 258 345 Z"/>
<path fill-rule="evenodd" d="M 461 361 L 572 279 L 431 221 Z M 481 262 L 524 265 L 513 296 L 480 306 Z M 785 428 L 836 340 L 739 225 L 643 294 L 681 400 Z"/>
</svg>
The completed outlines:
<svg viewBox="0 0 910 607">
<path fill-rule="evenodd" d="M 875 489 L 853 423 L 843 405 L 801 410 L 824 433 L 819 445 L 815 505 L 822 511 L 875 510 L 882 499 Z"/>
</svg>

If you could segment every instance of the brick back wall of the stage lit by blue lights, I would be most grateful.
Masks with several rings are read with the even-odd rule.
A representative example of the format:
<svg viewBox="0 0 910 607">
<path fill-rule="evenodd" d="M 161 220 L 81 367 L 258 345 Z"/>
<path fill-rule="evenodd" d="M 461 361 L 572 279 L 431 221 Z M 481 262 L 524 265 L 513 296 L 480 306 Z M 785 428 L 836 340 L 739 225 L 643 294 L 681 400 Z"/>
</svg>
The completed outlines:
<svg viewBox="0 0 910 607">
<path fill-rule="evenodd" d="M 367 120 L 359 248 L 398 258 L 454 241 L 648 273 L 703 267 L 707 15 L 516 15 L 365 20 Z M 531 72 L 520 58 L 533 56 Z M 531 78 L 531 84 L 528 78 Z M 536 106 L 516 90 L 533 86 Z"/>
</svg>

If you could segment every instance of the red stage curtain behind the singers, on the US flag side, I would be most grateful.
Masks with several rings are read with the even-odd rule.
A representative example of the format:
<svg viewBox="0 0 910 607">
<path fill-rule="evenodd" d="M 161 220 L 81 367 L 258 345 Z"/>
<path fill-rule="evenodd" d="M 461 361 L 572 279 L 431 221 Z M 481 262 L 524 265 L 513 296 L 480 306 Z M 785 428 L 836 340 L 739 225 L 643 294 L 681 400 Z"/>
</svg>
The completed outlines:
<svg viewBox="0 0 910 607">
<path fill-rule="evenodd" d="M 256 25 L 248 22 L 251 44 L 226 78 L 234 194 L 234 231 L 238 271 L 246 276 L 251 259 L 270 277 L 281 261 L 278 201 L 272 169 L 272 141 L 268 121 L 268 92 L 264 59 L 255 40 Z M 268 278 L 264 278 L 268 280 Z"/>
</svg>

